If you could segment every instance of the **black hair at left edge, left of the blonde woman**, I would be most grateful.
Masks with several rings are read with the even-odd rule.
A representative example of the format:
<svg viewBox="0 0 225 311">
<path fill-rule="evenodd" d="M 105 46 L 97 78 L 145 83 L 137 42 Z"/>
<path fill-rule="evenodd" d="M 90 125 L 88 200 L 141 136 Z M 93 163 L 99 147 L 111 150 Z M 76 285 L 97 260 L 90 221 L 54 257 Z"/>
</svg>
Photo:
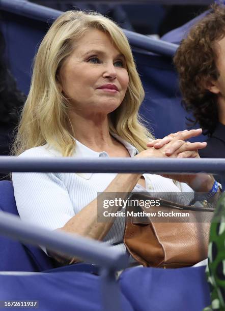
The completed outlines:
<svg viewBox="0 0 225 311">
<path fill-rule="evenodd" d="M 5 55 L 5 39 L 0 32 L 0 125 L 16 126 L 19 111 L 25 101 L 24 94 L 18 90 Z"/>
</svg>

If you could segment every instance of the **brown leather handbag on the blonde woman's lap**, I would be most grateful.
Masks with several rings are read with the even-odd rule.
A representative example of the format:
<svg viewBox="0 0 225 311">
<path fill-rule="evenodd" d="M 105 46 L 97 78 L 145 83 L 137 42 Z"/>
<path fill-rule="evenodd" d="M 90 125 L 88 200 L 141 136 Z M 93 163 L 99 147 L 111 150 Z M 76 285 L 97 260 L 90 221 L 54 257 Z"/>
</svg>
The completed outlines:
<svg viewBox="0 0 225 311">
<path fill-rule="evenodd" d="M 143 201 L 150 197 L 134 193 L 131 199 Z M 140 206 L 129 206 L 126 210 L 124 244 L 137 262 L 146 267 L 177 268 L 191 266 L 207 258 L 213 208 L 160 199 L 160 207 L 152 206 L 148 211 L 145 209 L 145 212 L 156 213 L 156 216 L 143 215 L 143 211 Z M 162 213 L 175 216 L 162 217 Z"/>
</svg>

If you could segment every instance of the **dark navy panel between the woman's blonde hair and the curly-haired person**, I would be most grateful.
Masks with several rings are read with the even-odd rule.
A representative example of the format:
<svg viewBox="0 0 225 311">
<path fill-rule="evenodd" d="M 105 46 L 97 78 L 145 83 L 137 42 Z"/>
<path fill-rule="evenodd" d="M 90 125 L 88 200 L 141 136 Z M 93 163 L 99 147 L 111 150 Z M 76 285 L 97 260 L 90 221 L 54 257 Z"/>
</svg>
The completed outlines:
<svg viewBox="0 0 225 311">
<path fill-rule="evenodd" d="M 145 100 L 140 107 L 140 114 L 147 121 L 147 127 L 154 137 L 162 138 L 187 129 L 186 117 L 190 117 L 190 114 L 181 105 L 178 77 L 172 58 L 135 48 L 133 55 L 145 89 Z M 204 136 L 190 139 L 204 140 Z"/>
</svg>

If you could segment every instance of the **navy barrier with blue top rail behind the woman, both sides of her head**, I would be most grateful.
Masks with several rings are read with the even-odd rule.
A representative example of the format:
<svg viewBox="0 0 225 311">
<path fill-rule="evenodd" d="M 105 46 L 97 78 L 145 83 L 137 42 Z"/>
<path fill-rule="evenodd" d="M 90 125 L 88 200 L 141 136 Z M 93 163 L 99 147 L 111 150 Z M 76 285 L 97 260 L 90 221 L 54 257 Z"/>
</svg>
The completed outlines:
<svg viewBox="0 0 225 311">
<path fill-rule="evenodd" d="M 53 19 L 62 12 L 24 0 L 1 1 L 0 10 L 0 26 L 7 42 L 9 64 L 18 87 L 27 94 L 32 60 L 37 47 Z M 127 30 L 124 32 L 131 44 L 137 70 L 146 91 L 140 113 L 147 120 L 148 127 L 156 138 L 186 129 L 185 116 L 189 114 L 180 104 L 177 74 L 172 65 L 172 56 L 177 45 Z M 197 140 L 203 141 L 205 137 L 191 139 Z"/>
</svg>

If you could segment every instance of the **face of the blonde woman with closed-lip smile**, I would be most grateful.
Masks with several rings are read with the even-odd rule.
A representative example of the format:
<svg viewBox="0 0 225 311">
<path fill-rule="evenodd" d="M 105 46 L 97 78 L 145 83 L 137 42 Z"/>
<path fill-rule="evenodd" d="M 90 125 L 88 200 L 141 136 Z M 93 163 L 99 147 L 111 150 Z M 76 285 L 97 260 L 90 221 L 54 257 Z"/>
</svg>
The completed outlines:
<svg viewBox="0 0 225 311">
<path fill-rule="evenodd" d="M 122 103 L 129 77 L 125 58 L 110 37 L 90 29 L 63 63 L 59 80 L 76 113 L 108 114 Z"/>
</svg>

